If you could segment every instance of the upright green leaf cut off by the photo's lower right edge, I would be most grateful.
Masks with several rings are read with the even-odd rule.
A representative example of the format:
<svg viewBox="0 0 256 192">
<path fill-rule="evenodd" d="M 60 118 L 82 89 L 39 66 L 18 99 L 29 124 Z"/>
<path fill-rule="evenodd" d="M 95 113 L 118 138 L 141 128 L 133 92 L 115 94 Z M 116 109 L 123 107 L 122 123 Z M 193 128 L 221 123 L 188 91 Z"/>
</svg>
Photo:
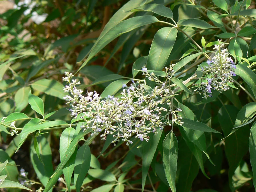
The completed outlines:
<svg viewBox="0 0 256 192">
<path fill-rule="evenodd" d="M 250 149 L 250 161 L 252 165 L 252 172 L 253 172 L 253 185 L 254 188 L 256 188 L 256 122 L 252 125 L 251 131 L 250 131 L 250 138 L 249 138 L 249 149 Z"/>
</svg>

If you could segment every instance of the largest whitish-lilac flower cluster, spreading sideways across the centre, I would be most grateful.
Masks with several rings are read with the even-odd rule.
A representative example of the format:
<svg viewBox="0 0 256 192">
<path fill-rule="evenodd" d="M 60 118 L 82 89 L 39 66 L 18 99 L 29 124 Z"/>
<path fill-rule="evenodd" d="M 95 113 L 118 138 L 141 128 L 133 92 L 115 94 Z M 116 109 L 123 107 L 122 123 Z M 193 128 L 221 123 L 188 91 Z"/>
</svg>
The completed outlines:
<svg viewBox="0 0 256 192">
<path fill-rule="evenodd" d="M 156 76 L 148 74 L 147 68 L 144 67 L 142 70 L 151 77 L 151 80 L 161 82 Z M 167 68 L 167 76 L 168 70 Z M 181 110 L 172 110 L 169 103 L 173 92 L 165 85 L 166 83 L 161 82 L 161 86 L 149 89 L 146 84 L 135 83 L 132 80 L 129 87 L 123 85 L 121 96 L 108 95 L 102 99 L 95 91 L 87 92 L 84 96 L 83 91 L 76 88 L 80 82 L 72 80 L 74 75 L 68 72 L 65 72 L 65 75 L 63 81 L 67 81 L 68 85 L 64 92 L 70 95 L 66 95 L 64 99 L 71 106 L 71 116 L 77 118 L 79 114 L 83 114 L 80 118 L 86 120 L 81 129 L 85 131 L 92 128 L 93 135 L 104 131 L 100 135 L 103 140 L 107 134 L 111 134 L 115 138 L 112 143 L 115 144 L 121 138 L 129 145 L 132 144 L 129 140 L 132 135 L 136 135 L 135 138 L 141 141 L 148 141 L 149 132 L 156 134 L 158 129 L 162 130 L 166 124 L 171 125 L 172 121 L 182 124 L 181 117 L 177 115 Z M 172 120 L 169 120 L 170 114 Z"/>
</svg>

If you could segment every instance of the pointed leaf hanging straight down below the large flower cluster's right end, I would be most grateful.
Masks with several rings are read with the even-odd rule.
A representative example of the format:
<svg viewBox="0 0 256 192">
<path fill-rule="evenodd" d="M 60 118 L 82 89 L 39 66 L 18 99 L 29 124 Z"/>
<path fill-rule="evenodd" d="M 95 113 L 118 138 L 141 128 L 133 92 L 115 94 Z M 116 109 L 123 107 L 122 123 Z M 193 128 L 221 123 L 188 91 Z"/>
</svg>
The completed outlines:
<svg viewBox="0 0 256 192">
<path fill-rule="evenodd" d="M 163 164 L 166 179 L 172 192 L 176 192 L 175 180 L 178 158 L 178 140 L 173 132 L 169 132 L 163 142 Z"/>
</svg>

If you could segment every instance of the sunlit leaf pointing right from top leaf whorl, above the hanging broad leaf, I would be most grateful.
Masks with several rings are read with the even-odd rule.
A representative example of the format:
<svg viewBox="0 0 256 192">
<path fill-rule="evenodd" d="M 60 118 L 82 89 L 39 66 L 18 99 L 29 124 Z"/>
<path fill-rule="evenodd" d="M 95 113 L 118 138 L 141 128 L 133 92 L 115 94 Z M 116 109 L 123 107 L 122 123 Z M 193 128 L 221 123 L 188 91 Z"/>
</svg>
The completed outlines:
<svg viewBox="0 0 256 192">
<path fill-rule="evenodd" d="M 182 19 L 182 20 L 179 20 L 177 24 L 182 26 L 187 26 L 187 27 L 195 27 L 199 29 L 216 28 L 210 25 L 209 23 L 207 23 L 206 21 L 200 20 L 200 19 Z"/>
</svg>

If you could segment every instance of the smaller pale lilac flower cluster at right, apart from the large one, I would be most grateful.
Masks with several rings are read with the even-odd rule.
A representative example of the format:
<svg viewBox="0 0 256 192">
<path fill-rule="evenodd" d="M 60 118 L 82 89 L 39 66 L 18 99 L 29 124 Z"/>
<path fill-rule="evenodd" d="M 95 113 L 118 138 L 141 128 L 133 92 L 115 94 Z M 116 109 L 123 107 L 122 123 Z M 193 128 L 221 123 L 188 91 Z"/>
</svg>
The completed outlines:
<svg viewBox="0 0 256 192">
<path fill-rule="evenodd" d="M 223 48 L 224 44 L 221 40 L 218 40 L 219 45 L 214 45 L 213 49 L 217 50 L 212 60 L 207 60 L 208 66 L 201 67 L 203 77 L 201 78 L 201 84 L 197 89 L 196 93 L 201 95 L 203 92 L 203 98 L 212 97 L 212 89 L 216 89 L 219 92 L 226 91 L 229 89 L 229 85 L 233 83 L 232 76 L 235 74 L 235 63 L 228 57 L 229 52 Z"/>
</svg>

